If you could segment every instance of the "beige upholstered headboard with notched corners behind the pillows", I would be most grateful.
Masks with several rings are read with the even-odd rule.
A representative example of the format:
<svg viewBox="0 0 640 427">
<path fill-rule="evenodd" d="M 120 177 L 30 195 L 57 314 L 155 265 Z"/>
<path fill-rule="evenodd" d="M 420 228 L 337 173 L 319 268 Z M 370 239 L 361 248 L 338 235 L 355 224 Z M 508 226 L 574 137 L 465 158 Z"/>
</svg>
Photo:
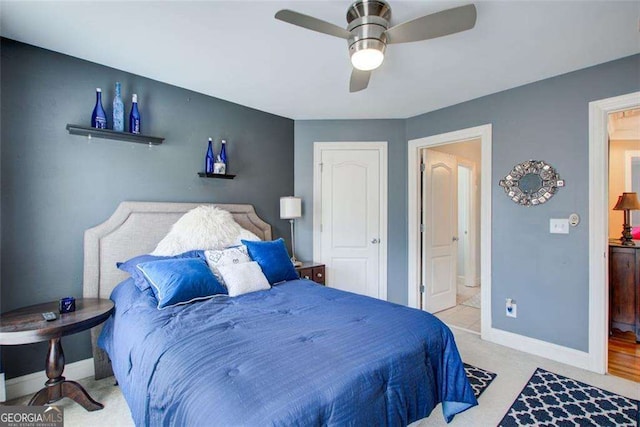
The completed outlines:
<svg viewBox="0 0 640 427">
<path fill-rule="evenodd" d="M 113 288 L 128 277 L 116 268 L 116 262 L 152 252 L 182 215 L 202 205 L 230 212 L 242 227 L 271 240 L 271 226 L 258 217 L 252 205 L 122 202 L 109 219 L 84 233 L 84 297 L 109 298 Z M 96 378 L 111 375 L 110 362 L 96 345 L 101 329 L 91 330 Z"/>
</svg>

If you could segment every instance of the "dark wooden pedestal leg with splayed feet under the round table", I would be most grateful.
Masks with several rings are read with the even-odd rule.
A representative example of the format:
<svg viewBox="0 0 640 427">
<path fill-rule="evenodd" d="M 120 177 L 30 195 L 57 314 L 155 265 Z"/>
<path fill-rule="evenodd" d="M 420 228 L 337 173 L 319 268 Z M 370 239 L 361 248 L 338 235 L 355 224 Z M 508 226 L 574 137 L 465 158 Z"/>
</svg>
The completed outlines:
<svg viewBox="0 0 640 427">
<path fill-rule="evenodd" d="M 62 376 L 64 371 L 64 352 L 60 338 L 49 340 L 49 351 L 47 352 L 46 372 L 47 380 L 45 387 L 37 392 L 29 401 L 29 405 L 45 405 L 68 397 L 79 403 L 87 411 L 96 411 L 104 408 L 101 403 L 96 402 L 89 396 L 89 393 L 77 382 L 67 381 Z"/>
</svg>

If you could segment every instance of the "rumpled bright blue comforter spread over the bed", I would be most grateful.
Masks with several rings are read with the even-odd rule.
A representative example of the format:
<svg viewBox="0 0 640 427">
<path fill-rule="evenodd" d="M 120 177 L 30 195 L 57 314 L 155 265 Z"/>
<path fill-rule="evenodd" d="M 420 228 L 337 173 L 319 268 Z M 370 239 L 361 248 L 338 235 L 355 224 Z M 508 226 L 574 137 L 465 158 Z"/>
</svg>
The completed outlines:
<svg viewBox="0 0 640 427">
<path fill-rule="evenodd" d="M 99 345 L 136 425 L 406 425 L 477 404 L 432 315 L 295 280 L 165 310 L 131 279 Z"/>
</svg>

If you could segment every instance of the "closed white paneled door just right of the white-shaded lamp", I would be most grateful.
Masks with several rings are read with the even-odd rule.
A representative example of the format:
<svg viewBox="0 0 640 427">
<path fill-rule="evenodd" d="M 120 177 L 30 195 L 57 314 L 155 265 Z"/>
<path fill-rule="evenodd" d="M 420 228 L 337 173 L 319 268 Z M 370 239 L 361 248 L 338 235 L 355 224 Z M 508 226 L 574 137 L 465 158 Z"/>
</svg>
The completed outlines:
<svg viewBox="0 0 640 427">
<path fill-rule="evenodd" d="M 386 299 L 381 150 L 321 148 L 319 157 L 319 261 L 326 265 L 327 285 Z"/>
</svg>

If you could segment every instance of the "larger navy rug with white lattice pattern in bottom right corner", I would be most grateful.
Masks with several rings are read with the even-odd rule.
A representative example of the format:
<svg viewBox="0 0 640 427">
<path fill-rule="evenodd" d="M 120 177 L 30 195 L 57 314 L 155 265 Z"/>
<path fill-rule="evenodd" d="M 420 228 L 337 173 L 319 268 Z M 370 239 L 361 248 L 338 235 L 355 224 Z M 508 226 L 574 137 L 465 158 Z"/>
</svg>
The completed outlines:
<svg viewBox="0 0 640 427">
<path fill-rule="evenodd" d="M 639 401 L 538 368 L 499 426 L 634 426 Z"/>
</svg>

